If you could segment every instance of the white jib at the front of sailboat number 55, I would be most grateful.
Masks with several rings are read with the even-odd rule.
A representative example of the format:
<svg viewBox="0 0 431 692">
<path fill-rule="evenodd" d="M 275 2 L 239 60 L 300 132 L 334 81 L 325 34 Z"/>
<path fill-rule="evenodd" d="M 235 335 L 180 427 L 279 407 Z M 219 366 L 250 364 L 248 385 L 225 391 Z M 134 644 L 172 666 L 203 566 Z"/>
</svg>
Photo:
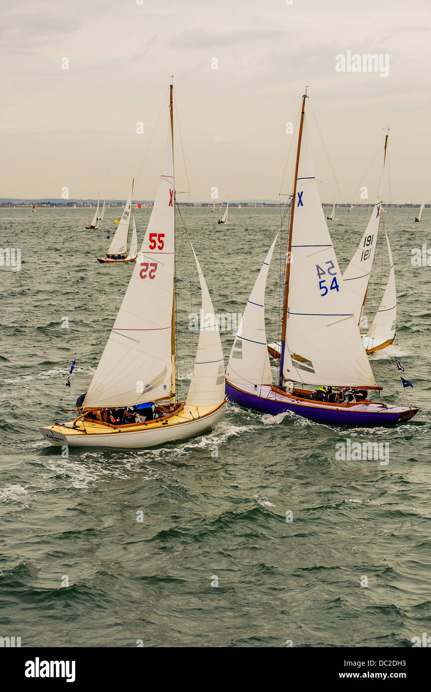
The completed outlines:
<svg viewBox="0 0 431 692">
<path fill-rule="evenodd" d="M 193 247 L 200 287 L 202 311 L 193 376 L 186 398 L 187 406 L 218 406 L 225 399 L 225 361 L 213 303 Z"/>
</svg>

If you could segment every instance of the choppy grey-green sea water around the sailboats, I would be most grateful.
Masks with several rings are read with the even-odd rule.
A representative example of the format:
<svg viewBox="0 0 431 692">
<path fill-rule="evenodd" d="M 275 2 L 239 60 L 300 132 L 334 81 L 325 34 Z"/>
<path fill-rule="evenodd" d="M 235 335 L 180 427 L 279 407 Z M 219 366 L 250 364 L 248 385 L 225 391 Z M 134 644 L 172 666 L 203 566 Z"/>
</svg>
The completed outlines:
<svg viewBox="0 0 431 692">
<path fill-rule="evenodd" d="M 64 458 L 38 427 L 60 397 L 58 419 L 71 419 L 121 304 L 132 267 L 96 262 L 118 210 L 95 231 L 84 228 L 89 210 L 0 210 L 0 246 L 21 248 L 20 271 L 0 267 L 1 636 L 22 646 L 403 647 L 431 633 L 431 268 L 411 264 L 412 248 L 431 245 L 430 212 L 421 224 L 414 212 L 385 215 L 398 328 L 394 345 L 371 356 L 391 403 L 405 402 L 394 357 L 403 363 L 421 408 L 412 421 L 331 428 L 231 404 L 204 437 Z M 139 242 L 149 214 L 136 212 Z M 368 217 L 337 210 L 342 270 Z M 276 208 L 232 209 L 220 227 L 209 209 L 187 211 L 216 311 L 243 311 L 279 219 Z M 177 249 L 186 391 L 200 292 L 181 230 Z M 268 338 L 279 325 L 276 254 Z M 226 360 L 232 338 L 222 332 Z M 388 443 L 389 463 L 336 459 L 348 438 Z"/>
</svg>

